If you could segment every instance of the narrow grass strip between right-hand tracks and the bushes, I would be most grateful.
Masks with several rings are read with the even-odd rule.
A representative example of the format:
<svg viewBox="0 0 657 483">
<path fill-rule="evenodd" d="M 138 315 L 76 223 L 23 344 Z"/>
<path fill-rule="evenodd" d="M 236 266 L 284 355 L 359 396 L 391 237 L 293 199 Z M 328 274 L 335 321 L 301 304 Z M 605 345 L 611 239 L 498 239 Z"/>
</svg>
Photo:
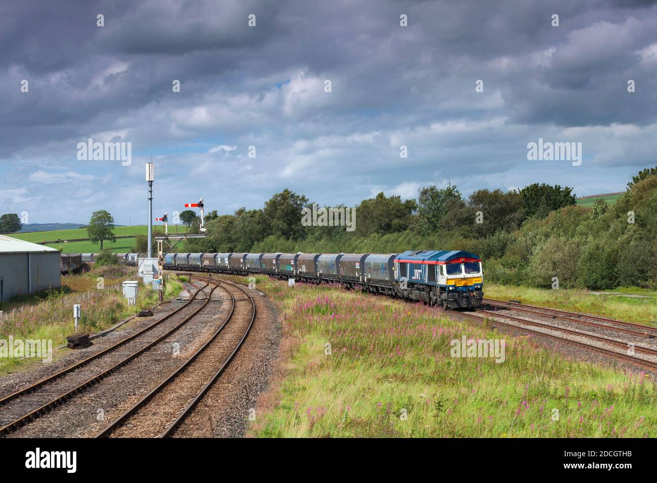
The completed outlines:
<svg viewBox="0 0 657 483">
<path fill-rule="evenodd" d="M 488 298 L 520 300 L 522 304 L 591 313 L 601 317 L 657 326 L 657 292 L 640 288 L 619 289 L 606 294 L 588 290 L 510 287 L 487 283 Z M 639 297 L 633 295 L 641 295 Z"/>
</svg>

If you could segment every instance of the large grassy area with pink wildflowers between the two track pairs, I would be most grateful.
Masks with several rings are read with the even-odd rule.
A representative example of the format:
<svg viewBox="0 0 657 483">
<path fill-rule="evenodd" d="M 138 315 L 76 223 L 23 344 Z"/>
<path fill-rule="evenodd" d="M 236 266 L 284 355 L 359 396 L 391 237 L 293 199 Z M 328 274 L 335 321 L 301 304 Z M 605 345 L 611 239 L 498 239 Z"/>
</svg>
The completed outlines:
<svg viewBox="0 0 657 483">
<path fill-rule="evenodd" d="M 279 376 L 252 436 L 657 436 L 656 386 L 645 375 L 569 361 L 420 304 L 257 284 L 284 322 Z M 451 357 L 463 335 L 505 339 L 504 361 Z"/>
</svg>

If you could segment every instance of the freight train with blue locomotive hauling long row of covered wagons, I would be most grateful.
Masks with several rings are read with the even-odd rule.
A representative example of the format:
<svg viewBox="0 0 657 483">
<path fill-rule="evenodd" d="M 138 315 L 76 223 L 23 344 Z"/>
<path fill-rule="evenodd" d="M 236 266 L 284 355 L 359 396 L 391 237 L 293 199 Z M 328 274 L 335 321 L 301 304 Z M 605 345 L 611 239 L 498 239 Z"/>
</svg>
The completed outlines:
<svg viewBox="0 0 657 483">
<path fill-rule="evenodd" d="M 85 254 L 93 261 L 95 254 Z M 116 254 L 136 265 L 136 253 Z M 83 259 L 85 256 L 83 256 Z M 248 275 L 263 273 L 307 283 L 337 283 L 445 309 L 476 308 L 484 298 L 482 260 L 460 250 L 370 253 L 170 253 L 168 270 Z"/>
</svg>

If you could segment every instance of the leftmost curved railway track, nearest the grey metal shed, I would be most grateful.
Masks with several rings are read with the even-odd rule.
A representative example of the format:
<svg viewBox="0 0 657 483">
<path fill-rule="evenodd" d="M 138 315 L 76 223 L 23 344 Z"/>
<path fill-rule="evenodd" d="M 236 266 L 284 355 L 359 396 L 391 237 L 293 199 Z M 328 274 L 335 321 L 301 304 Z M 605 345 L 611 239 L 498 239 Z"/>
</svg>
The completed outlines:
<svg viewBox="0 0 657 483">
<path fill-rule="evenodd" d="M 212 279 L 197 278 L 202 279 L 205 285 L 198 288 L 190 300 L 177 310 L 121 342 L 0 400 L 0 436 L 6 436 L 21 426 L 29 424 L 76 394 L 84 392 L 193 319 L 208 305 L 214 290 L 219 287 L 219 284 Z M 212 288 L 210 288 L 211 285 L 213 285 Z M 206 292 L 208 288 L 210 291 Z M 204 294 L 204 298 L 201 298 L 200 294 Z M 164 321 L 179 317 L 183 318 L 175 321 L 173 327 L 162 324 Z M 146 342 L 146 344 L 139 344 L 139 342 Z M 124 350 L 118 350 L 119 348 Z M 127 356 L 125 356 L 125 349 L 128 349 Z M 92 361 L 95 361 L 93 367 L 87 367 Z M 53 394 L 57 394 L 57 396 L 53 398 Z"/>
</svg>

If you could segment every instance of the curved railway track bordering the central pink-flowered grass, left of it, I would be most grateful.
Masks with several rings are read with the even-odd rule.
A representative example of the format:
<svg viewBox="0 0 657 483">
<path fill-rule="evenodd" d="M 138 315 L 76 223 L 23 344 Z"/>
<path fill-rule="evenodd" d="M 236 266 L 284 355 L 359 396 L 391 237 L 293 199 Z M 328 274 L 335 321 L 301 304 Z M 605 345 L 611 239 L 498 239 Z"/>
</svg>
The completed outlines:
<svg viewBox="0 0 657 483">
<path fill-rule="evenodd" d="M 256 319 L 254 298 L 235 283 L 225 280 L 221 283 L 231 296 L 232 306 L 217 331 L 181 367 L 96 434 L 96 438 L 169 437 L 221 377 Z M 237 314 L 237 304 L 241 302 L 243 308 Z"/>
</svg>

